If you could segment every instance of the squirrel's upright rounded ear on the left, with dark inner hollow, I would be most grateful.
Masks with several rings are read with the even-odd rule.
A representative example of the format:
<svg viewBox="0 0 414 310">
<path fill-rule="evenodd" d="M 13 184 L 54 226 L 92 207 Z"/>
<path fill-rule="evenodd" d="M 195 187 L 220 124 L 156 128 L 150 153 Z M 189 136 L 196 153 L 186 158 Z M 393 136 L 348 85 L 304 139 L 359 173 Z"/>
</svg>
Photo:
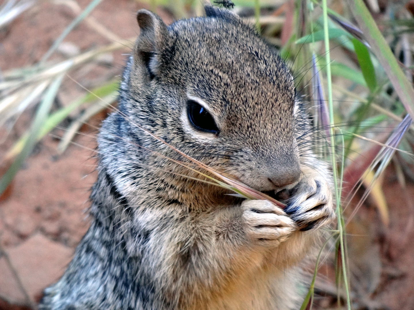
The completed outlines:
<svg viewBox="0 0 414 310">
<path fill-rule="evenodd" d="M 153 79 L 157 70 L 152 60 L 164 49 L 168 41 L 167 26 L 158 15 L 144 9 L 137 12 L 137 21 L 140 36 L 135 43 L 134 58 L 136 62 L 144 64 L 150 79 Z"/>
</svg>

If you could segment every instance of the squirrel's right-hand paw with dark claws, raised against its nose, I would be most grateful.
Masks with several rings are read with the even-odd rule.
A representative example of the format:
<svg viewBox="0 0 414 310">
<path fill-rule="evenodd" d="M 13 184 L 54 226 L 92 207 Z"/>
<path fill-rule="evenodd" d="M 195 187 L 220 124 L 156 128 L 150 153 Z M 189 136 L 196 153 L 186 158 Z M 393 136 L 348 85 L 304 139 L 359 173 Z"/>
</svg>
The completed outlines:
<svg viewBox="0 0 414 310">
<path fill-rule="evenodd" d="M 286 213 L 301 231 L 322 227 L 335 218 L 332 192 L 324 179 L 303 179 L 288 201 Z"/>
</svg>

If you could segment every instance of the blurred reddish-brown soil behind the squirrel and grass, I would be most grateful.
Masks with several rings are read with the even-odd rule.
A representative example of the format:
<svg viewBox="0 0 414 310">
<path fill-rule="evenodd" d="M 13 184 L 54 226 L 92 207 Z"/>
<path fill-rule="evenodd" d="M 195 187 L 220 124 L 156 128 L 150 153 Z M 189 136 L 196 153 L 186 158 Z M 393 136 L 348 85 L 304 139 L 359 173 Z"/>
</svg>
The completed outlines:
<svg viewBox="0 0 414 310">
<path fill-rule="evenodd" d="M 84 8 L 89 0 L 77 2 Z M 143 7 L 149 9 L 132 0 L 104 0 L 91 16 L 120 38 L 132 38 L 139 34 L 135 12 Z M 166 10 L 157 9 L 157 13 L 167 24 L 173 20 Z M 46 1 L 24 12 L 0 32 L 1 70 L 39 61 L 75 16 L 67 6 Z M 64 42 L 81 52 L 110 43 L 84 22 Z M 86 88 L 99 86 L 122 73 L 129 52 L 125 48 L 106 55 L 101 61 L 75 70 L 71 77 Z M 51 62 L 63 59 L 62 53 L 55 52 Z M 65 78 L 55 109 L 85 93 L 72 79 Z M 0 156 L 26 131 L 34 111 L 35 107 L 26 110 L 7 137 L 2 132 Z M 72 119 L 80 112 L 75 111 Z M 89 189 L 96 179 L 95 134 L 105 116 L 106 112 L 102 112 L 90 119 L 62 155 L 58 155 L 56 146 L 67 123 L 60 124 L 36 145 L 1 196 L 0 310 L 34 307 L 43 289 L 63 274 L 87 231 Z M 0 174 L 8 164 L 3 162 Z M 358 308 L 410 310 L 414 309 L 414 185 L 402 187 L 390 165 L 383 191 L 390 211 L 389 227 L 381 223 L 369 200 L 349 225 L 353 296 Z M 332 255 L 327 255 L 318 276 L 319 308 L 335 307 L 332 268 Z"/>
</svg>

